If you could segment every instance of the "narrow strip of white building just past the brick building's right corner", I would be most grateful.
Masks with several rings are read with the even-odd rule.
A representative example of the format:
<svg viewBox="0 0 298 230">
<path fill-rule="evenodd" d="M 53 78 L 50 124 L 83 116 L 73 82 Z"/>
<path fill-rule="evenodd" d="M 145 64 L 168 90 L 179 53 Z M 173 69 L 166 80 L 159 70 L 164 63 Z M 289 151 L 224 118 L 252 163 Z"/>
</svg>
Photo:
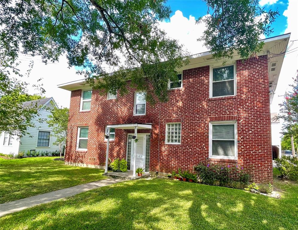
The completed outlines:
<svg viewBox="0 0 298 230">
<path fill-rule="evenodd" d="M 282 125 L 276 119 L 277 113 L 271 113 L 271 140 L 272 140 L 272 159 L 282 157 L 281 131 Z"/>
</svg>

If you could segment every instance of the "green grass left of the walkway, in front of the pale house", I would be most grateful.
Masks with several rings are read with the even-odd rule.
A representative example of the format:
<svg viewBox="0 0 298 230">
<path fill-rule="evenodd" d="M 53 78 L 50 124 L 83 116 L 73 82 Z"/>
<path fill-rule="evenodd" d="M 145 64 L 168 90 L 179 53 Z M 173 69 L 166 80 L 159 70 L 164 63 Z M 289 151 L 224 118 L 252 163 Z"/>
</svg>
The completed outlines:
<svg viewBox="0 0 298 230">
<path fill-rule="evenodd" d="M 0 203 L 106 178 L 103 170 L 67 166 L 54 158 L 0 158 Z"/>
</svg>

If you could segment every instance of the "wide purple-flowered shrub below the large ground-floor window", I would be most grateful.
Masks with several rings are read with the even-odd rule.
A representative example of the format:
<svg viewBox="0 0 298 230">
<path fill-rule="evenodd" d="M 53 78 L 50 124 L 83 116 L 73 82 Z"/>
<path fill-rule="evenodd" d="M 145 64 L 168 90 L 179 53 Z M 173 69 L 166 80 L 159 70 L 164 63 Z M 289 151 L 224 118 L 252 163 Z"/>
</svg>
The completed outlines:
<svg viewBox="0 0 298 230">
<path fill-rule="evenodd" d="M 243 167 L 236 165 L 235 167 L 219 166 L 219 165 L 204 165 L 200 163 L 195 167 L 198 172 L 199 180 L 203 184 L 216 184 L 220 186 L 235 187 L 233 183 L 241 183 L 248 185 L 250 175 L 244 171 Z"/>
</svg>

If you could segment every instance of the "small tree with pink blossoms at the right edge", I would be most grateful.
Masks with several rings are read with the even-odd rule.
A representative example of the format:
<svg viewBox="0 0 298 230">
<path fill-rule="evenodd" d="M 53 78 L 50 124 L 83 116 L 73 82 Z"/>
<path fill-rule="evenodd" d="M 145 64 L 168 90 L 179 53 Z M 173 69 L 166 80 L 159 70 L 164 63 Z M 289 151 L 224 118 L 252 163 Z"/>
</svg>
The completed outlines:
<svg viewBox="0 0 298 230">
<path fill-rule="evenodd" d="M 293 89 L 285 93 L 285 101 L 280 104 L 281 115 L 278 118 L 284 120 L 282 134 L 285 138 L 293 137 L 295 143 L 295 140 L 298 140 L 298 75 L 294 78 L 294 84 L 290 86 Z"/>
</svg>

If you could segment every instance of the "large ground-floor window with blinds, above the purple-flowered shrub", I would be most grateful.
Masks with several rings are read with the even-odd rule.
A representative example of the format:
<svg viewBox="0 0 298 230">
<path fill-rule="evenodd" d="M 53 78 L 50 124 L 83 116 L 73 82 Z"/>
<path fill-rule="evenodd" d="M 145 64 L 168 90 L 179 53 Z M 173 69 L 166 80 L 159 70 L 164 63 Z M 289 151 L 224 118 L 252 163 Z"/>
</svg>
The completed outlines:
<svg viewBox="0 0 298 230">
<path fill-rule="evenodd" d="M 210 157 L 236 158 L 236 122 L 210 123 Z"/>
</svg>

